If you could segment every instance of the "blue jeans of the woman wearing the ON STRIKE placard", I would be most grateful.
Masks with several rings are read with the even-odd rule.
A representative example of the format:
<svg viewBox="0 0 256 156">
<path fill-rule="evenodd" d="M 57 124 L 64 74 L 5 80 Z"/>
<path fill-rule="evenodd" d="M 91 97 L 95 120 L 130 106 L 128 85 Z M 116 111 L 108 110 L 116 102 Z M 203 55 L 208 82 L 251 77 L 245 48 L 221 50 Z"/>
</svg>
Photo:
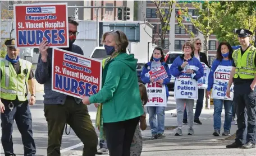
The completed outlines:
<svg viewBox="0 0 256 156">
<path fill-rule="evenodd" d="M 231 121 L 232 121 L 232 104 L 233 101 L 213 99 L 214 103 L 214 114 L 213 114 L 213 127 L 214 130 L 221 130 L 221 112 L 224 103 L 225 108 L 225 121 L 224 121 L 224 131 L 230 131 Z"/>
</svg>

